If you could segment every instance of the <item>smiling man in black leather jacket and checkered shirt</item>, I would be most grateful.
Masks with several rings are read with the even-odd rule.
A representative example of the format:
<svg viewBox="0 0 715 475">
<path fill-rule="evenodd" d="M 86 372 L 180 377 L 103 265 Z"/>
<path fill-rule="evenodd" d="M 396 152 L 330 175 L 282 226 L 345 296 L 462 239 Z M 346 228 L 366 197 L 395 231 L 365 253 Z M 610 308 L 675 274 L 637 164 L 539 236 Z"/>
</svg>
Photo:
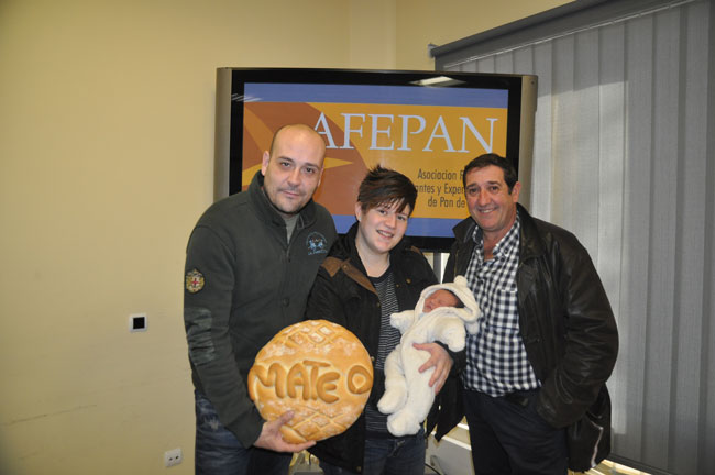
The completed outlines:
<svg viewBox="0 0 715 475">
<path fill-rule="evenodd" d="M 609 452 L 605 382 L 616 322 L 586 250 L 517 203 L 510 161 L 474 158 L 462 175 L 470 218 L 444 281 L 464 275 L 483 313 L 469 335 L 461 400 L 476 474 L 585 471 Z"/>
</svg>

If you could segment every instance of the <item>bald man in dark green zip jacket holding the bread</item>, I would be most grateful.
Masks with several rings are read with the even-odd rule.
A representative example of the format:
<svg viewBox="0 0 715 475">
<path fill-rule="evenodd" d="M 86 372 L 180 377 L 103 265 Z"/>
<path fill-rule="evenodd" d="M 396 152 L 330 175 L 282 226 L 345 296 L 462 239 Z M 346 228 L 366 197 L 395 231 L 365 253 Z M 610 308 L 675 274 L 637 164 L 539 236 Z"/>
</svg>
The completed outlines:
<svg viewBox="0 0 715 475">
<path fill-rule="evenodd" d="M 274 135 L 248 191 L 213 203 L 188 242 L 184 323 L 196 388 L 196 473 L 285 474 L 289 444 L 251 401 L 248 373 L 258 350 L 302 320 L 308 292 L 337 238 L 312 201 L 323 170 L 322 137 L 306 125 Z"/>
</svg>

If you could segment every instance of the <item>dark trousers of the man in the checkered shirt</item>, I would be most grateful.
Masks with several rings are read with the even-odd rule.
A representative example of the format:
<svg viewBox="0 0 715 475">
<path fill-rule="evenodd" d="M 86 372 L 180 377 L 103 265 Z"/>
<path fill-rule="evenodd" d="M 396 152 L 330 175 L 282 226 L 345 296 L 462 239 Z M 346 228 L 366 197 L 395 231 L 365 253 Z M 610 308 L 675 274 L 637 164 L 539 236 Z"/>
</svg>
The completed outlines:
<svg viewBox="0 0 715 475">
<path fill-rule="evenodd" d="M 554 429 L 536 411 L 538 390 L 492 397 L 464 390 L 475 474 L 566 473 L 565 429 Z"/>
</svg>

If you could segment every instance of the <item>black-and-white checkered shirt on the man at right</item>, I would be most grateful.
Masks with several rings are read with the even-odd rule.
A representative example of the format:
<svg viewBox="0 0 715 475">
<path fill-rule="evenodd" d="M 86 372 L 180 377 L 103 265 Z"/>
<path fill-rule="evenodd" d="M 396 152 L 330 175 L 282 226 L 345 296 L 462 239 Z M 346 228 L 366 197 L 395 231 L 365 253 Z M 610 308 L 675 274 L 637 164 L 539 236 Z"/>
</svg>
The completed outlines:
<svg viewBox="0 0 715 475">
<path fill-rule="evenodd" d="M 493 257 L 488 261 L 484 259 L 482 230 L 477 227 L 472 235 L 476 245 L 465 277 L 483 318 L 476 334 L 468 334 L 466 368 L 462 380 L 468 389 L 490 396 L 540 386 L 519 332 L 516 272 L 520 228 L 517 214 L 514 225 L 494 246 Z"/>
</svg>

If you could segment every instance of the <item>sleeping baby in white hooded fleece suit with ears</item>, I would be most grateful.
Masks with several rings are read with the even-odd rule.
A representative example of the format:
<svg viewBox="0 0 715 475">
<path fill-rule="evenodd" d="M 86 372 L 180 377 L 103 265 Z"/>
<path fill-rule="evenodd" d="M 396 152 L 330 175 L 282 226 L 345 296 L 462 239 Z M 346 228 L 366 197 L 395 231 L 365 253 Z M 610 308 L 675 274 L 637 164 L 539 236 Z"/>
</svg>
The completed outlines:
<svg viewBox="0 0 715 475">
<path fill-rule="evenodd" d="M 377 402 L 387 417 L 393 435 L 415 434 L 435 401 L 429 380 L 435 367 L 419 367 L 430 357 L 415 343 L 439 341 L 453 351 L 464 349 L 466 331 L 476 332 L 481 311 L 466 279 L 458 276 L 452 284 L 437 284 L 422 290 L 415 310 L 393 313 L 391 324 L 403 333 L 399 344 L 385 360 L 385 394 Z"/>
</svg>

